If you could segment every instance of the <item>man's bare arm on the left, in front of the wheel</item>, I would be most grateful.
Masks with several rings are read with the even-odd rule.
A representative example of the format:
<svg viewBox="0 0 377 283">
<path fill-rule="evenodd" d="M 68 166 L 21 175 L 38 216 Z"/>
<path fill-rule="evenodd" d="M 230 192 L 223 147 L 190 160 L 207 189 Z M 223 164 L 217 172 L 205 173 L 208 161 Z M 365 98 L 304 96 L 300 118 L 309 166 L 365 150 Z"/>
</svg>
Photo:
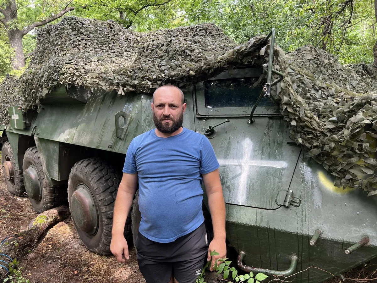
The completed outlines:
<svg viewBox="0 0 377 283">
<path fill-rule="evenodd" d="M 127 241 L 124 238 L 124 225 L 126 225 L 127 216 L 132 207 L 133 197 L 138 184 L 138 174 L 123 173 L 122 180 L 119 184 L 118 192 L 114 205 L 113 229 L 110 250 L 119 262 L 129 259 Z M 122 258 L 122 252 L 124 258 Z"/>
</svg>

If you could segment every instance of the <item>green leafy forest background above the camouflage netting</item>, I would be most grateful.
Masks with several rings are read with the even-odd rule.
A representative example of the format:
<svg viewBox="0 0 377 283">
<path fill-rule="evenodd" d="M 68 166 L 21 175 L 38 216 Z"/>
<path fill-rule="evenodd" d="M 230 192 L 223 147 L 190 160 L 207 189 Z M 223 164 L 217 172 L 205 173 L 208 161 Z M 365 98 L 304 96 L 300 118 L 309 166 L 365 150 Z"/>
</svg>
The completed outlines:
<svg viewBox="0 0 377 283">
<path fill-rule="evenodd" d="M 27 67 L 38 28 L 69 15 L 133 31 L 213 22 L 238 43 L 276 28 L 286 52 L 311 44 L 377 65 L 377 0 L 0 0 L 0 81 Z"/>
</svg>

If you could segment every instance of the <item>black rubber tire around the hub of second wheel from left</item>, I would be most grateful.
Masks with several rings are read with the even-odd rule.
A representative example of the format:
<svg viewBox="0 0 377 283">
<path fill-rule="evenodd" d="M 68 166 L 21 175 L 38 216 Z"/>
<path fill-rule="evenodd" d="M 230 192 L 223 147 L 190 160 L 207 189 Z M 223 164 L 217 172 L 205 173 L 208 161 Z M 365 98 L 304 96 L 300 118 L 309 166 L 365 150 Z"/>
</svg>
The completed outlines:
<svg viewBox="0 0 377 283">
<path fill-rule="evenodd" d="M 55 208 L 64 203 L 67 197 L 66 190 L 59 189 L 57 185 L 50 185 L 43 172 L 43 166 L 39 152 L 36 146 L 28 148 L 25 152 L 23 159 L 23 171 L 29 168 L 29 166 L 34 166 L 38 172 L 41 188 L 41 198 L 40 200 L 35 200 L 29 197 L 33 209 L 41 213 L 51 208 Z"/>
</svg>

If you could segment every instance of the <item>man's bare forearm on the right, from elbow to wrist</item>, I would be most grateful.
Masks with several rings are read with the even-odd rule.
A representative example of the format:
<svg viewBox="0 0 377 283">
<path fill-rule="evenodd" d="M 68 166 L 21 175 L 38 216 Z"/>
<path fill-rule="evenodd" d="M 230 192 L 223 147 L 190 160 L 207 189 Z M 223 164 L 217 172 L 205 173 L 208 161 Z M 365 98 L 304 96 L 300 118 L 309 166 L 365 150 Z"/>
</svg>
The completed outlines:
<svg viewBox="0 0 377 283">
<path fill-rule="evenodd" d="M 225 203 L 222 191 L 214 192 L 207 197 L 212 218 L 213 238 L 225 239 Z"/>
</svg>

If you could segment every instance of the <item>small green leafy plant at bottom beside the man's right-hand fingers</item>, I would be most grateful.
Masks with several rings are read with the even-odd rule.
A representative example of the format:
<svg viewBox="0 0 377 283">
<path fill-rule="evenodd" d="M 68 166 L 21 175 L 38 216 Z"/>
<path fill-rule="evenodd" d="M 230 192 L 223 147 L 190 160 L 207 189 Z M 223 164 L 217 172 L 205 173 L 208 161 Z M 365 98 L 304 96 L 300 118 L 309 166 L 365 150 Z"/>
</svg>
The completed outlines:
<svg viewBox="0 0 377 283">
<path fill-rule="evenodd" d="M 215 250 L 211 252 L 211 257 L 214 255 L 219 255 L 218 252 Z M 224 281 L 227 282 L 245 282 L 245 283 L 261 283 L 262 280 L 265 280 L 268 276 L 263 274 L 263 273 L 258 273 L 255 275 L 253 272 L 250 272 L 245 275 L 238 275 L 238 270 L 234 267 L 230 267 L 231 260 L 228 260 L 228 258 L 219 258 L 218 262 L 220 263 L 215 263 L 215 270 L 217 271 L 218 274 L 221 272 L 223 273 Z M 208 268 L 208 266 L 211 264 L 211 261 L 208 261 L 207 264 L 204 266 L 202 273 L 199 275 L 199 277 L 196 279 L 196 283 L 206 283 L 204 282 L 204 275 L 205 275 L 205 270 Z M 230 281 L 230 277 L 234 281 Z"/>
</svg>

